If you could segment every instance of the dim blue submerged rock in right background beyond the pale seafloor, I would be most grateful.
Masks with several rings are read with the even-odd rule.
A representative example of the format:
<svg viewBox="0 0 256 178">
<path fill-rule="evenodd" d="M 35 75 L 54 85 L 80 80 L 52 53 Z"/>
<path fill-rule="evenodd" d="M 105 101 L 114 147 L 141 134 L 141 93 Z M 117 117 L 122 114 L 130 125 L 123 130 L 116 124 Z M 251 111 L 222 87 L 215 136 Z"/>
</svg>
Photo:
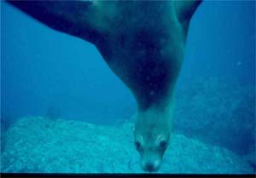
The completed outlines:
<svg viewBox="0 0 256 178">
<path fill-rule="evenodd" d="M 173 129 L 242 156 L 256 150 L 255 112 L 253 83 L 197 78 L 177 89 Z"/>
</svg>

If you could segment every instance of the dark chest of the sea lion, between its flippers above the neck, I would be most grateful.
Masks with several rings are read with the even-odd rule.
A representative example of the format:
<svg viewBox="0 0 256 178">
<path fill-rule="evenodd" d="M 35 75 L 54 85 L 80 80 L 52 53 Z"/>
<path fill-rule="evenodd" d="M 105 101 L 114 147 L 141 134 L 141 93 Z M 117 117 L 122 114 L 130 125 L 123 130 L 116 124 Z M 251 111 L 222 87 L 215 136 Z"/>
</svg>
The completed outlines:
<svg viewBox="0 0 256 178">
<path fill-rule="evenodd" d="M 146 108 L 166 98 L 177 78 L 183 59 L 183 29 L 170 3 L 123 5 L 117 11 L 122 16 L 114 16 L 115 23 L 99 50 Z M 123 18 L 127 16 L 131 20 Z"/>
</svg>

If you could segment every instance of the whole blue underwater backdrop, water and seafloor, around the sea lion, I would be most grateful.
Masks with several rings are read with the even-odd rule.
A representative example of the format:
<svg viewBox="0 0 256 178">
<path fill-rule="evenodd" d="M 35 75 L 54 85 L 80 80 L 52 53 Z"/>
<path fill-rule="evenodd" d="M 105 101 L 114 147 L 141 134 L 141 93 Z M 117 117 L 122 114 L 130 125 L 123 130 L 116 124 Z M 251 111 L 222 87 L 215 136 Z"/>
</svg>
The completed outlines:
<svg viewBox="0 0 256 178">
<path fill-rule="evenodd" d="M 1 172 L 143 172 L 136 108 L 95 46 L 1 1 Z M 173 122 L 160 172 L 255 174 L 254 1 L 196 10 Z"/>
</svg>

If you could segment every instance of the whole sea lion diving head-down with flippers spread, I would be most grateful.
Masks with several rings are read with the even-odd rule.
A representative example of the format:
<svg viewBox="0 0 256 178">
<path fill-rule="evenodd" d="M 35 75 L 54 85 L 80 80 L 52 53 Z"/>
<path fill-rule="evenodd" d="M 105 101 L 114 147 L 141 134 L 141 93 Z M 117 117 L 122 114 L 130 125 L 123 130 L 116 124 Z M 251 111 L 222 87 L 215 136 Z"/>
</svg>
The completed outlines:
<svg viewBox="0 0 256 178">
<path fill-rule="evenodd" d="M 135 146 L 160 168 L 189 21 L 201 1 L 8 1 L 45 25 L 96 45 L 137 100 Z"/>
</svg>

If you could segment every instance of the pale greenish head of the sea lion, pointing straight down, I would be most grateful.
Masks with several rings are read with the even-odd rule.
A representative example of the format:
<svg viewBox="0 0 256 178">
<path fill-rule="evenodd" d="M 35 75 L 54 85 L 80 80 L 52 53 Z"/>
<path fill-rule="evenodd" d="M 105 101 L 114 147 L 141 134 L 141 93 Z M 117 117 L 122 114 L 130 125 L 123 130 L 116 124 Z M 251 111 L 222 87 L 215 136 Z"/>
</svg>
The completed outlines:
<svg viewBox="0 0 256 178">
<path fill-rule="evenodd" d="M 134 127 L 134 144 L 141 156 L 141 166 L 145 171 L 160 169 L 164 153 L 169 144 L 171 125 L 166 118 L 146 114 L 137 117 Z"/>
</svg>

